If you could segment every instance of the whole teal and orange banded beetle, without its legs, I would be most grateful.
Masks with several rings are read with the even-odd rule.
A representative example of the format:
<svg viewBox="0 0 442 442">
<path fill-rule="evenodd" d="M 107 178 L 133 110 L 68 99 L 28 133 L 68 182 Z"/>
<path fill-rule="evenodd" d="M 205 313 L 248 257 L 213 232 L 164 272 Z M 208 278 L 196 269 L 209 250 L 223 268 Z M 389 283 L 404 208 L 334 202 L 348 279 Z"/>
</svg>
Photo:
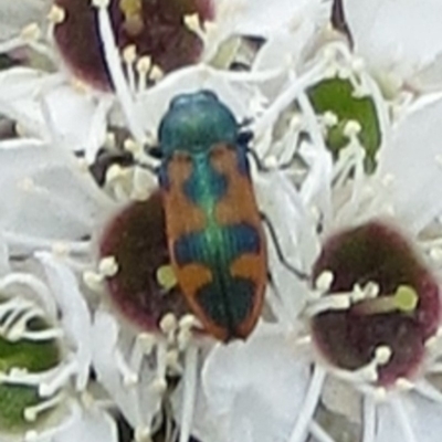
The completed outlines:
<svg viewBox="0 0 442 442">
<path fill-rule="evenodd" d="M 267 282 L 242 138 L 232 112 L 210 91 L 175 97 L 158 134 L 171 264 L 194 315 L 224 341 L 253 330 Z"/>
</svg>

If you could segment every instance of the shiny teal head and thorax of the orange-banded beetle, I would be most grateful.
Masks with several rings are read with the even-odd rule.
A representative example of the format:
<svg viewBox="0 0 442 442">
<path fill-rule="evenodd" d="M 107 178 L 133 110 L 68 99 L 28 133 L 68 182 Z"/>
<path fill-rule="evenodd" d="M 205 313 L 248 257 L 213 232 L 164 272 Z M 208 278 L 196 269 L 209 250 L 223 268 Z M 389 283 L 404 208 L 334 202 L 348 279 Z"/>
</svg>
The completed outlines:
<svg viewBox="0 0 442 442">
<path fill-rule="evenodd" d="M 218 143 L 236 144 L 238 123 L 232 112 L 210 91 L 176 96 L 159 125 L 162 155 L 203 152 Z"/>
</svg>

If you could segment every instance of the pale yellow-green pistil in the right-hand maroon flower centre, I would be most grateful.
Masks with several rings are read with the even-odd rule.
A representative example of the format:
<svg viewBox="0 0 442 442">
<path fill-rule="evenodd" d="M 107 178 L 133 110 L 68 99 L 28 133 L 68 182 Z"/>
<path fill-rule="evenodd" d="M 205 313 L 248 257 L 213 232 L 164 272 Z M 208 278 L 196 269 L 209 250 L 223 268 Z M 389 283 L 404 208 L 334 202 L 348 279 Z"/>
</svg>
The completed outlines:
<svg viewBox="0 0 442 442">
<path fill-rule="evenodd" d="M 419 296 L 415 290 L 409 285 L 400 285 L 393 295 L 361 301 L 352 307 L 351 312 L 360 315 L 379 315 L 397 311 L 413 313 L 418 303 Z"/>
</svg>

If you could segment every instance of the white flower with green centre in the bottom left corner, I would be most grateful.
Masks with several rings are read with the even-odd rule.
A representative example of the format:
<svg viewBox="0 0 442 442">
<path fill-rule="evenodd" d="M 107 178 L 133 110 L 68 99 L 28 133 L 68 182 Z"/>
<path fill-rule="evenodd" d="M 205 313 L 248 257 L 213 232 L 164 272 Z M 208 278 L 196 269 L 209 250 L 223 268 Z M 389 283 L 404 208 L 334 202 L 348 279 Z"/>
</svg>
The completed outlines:
<svg viewBox="0 0 442 442">
<path fill-rule="evenodd" d="M 48 254 L 0 278 L 1 441 L 117 441 L 87 399 L 91 317 L 72 272 Z"/>
</svg>

